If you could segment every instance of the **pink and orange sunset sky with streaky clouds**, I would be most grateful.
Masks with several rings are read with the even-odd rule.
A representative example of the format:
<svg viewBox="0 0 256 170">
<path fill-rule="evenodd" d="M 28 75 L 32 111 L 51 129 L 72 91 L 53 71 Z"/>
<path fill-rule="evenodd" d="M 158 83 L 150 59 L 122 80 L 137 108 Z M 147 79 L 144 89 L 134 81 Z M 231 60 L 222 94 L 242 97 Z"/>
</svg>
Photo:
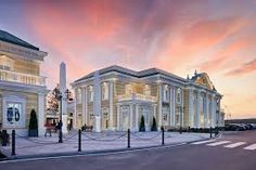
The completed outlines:
<svg viewBox="0 0 256 170">
<path fill-rule="evenodd" d="M 256 0 L 1 0 L 0 29 L 49 53 L 49 89 L 61 61 L 68 83 L 110 65 L 196 69 L 232 118 L 256 117 Z"/>
</svg>

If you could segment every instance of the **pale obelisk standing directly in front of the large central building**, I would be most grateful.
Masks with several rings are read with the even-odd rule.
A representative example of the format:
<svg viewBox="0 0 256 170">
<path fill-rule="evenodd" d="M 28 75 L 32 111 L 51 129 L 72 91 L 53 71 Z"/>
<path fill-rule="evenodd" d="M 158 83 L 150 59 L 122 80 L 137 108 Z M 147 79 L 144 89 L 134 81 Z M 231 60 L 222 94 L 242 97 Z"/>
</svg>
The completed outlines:
<svg viewBox="0 0 256 170">
<path fill-rule="evenodd" d="M 101 83 L 99 71 L 94 73 L 93 77 L 93 115 L 94 115 L 94 126 L 95 132 L 101 132 Z"/>
</svg>

